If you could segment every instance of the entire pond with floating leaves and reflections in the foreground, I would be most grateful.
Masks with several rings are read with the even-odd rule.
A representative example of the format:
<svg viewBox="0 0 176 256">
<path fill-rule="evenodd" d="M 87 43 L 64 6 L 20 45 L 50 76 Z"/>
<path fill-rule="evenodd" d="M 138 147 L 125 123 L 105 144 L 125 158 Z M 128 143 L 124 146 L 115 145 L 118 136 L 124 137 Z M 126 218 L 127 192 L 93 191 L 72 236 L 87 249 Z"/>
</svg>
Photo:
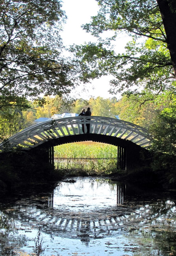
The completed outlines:
<svg viewBox="0 0 176 256">
<path fill-rule="evenodd" d="M 37 238 L 45 256 L 176 255 L 175 202 L 107 178 L 24 187 L 1 203 L 0 255 L 35 255 Z"/>
</svg>

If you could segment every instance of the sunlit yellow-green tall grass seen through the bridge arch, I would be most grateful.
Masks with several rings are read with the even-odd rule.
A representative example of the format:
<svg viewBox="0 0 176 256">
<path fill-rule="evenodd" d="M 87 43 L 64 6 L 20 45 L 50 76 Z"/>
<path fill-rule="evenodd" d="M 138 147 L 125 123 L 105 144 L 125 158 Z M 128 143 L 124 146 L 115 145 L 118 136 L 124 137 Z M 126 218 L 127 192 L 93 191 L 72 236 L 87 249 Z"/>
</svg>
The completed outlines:
<svg viewBox="0 0 176 256">
<path fill-rule="evenodd" d="M 67 175 L 76 175 L 82 172 L 87 175 L 109 174 L 112 171 L 116 171 L 117 160 L 108 158 L 117 157 L 117 147 L 92 141 L 69 143 L 56 146 L 54 148 L 54 157 L 68 158 L 55 160 L 55 167 L 59 170 L 64 169 L 65 172 L 67 171 Z"/>
</svg>

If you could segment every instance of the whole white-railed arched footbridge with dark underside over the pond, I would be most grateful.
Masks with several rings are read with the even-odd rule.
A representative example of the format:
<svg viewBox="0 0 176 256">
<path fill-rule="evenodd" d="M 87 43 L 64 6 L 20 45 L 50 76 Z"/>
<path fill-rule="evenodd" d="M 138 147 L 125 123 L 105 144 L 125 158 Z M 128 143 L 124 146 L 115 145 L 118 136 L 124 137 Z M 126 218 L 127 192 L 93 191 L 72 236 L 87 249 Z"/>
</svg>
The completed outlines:
<svg viewBox="0 0 176 256">
<path fill-rule="evenodd" d="M 86 124 L 90 125 L 89 134 L 82 132 L 82 125 L 85 132 L 87 131 Z M 25 151 L 46 146 L 50 148 L 49 158 L 50 162 L 53 162 L 53 146 L 92 140 L 118 146 L 117 157 L 125 161 L 125 164 L 120 164 L 124 167 L 126 149 L 130 148 L 132 159 L 133 149 L 148 149 L 152 139 L 148 130 L 127 121 L 101 116 L 77 116 L 50 120 L 28 127 L 11 136 L 7 142 L 0 143 L 0 150 L 7 146 L 8 149 L 21 147 Z"/>
</svg>

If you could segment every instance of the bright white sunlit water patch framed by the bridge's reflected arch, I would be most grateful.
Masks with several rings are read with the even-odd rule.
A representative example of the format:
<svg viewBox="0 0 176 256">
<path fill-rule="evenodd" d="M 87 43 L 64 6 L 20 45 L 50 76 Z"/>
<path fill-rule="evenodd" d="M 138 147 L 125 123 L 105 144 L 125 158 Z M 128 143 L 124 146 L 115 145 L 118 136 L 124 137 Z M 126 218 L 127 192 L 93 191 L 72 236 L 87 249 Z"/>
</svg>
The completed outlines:
<svg viewBox="0 0 176 256">
<path fill-rule="evenodd" d="M 117 184 L 108 181 L 81 178 L 74 182 L 68 179 L 58 183 L 49 198 L 48 205 L 58 209 L 64 207 L 65 210 L 72 211 L 116 206 L 117 189 Z"/>
</svg>

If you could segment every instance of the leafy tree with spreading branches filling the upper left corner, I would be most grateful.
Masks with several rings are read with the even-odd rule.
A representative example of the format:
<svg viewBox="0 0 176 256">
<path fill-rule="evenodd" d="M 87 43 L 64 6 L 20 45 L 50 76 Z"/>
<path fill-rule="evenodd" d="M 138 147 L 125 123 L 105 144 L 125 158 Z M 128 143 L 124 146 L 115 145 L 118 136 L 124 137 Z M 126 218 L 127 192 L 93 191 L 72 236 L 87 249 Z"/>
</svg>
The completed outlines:
<svg viewBox="0 0 176 256">
<path fill-rule="evenodd" d="M 61 56 L 65 18 L 60 0 L 1 1 L 1 107 L 2 100 L 11 105 L 11 97 L 61 96 L 70 91 L 74 67 Z"/>
</svg>

